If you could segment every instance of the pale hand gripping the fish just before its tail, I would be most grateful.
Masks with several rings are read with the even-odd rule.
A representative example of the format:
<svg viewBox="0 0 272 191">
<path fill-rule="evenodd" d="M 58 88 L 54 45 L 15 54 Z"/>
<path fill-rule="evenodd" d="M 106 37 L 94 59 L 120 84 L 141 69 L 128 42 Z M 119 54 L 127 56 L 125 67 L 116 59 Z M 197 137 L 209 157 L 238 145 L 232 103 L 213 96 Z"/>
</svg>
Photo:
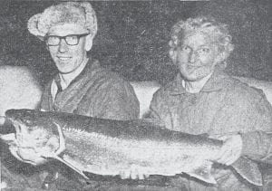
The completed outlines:
<svg viewBox="0 0 272 191">
<path fill-rule="evenodd" d="M 241 157 L 243 142 L 240 135 L 221 136 L 217 139 L 224 141 L 216 159 L 218 163 L 229 166 Z"/>
</svg>

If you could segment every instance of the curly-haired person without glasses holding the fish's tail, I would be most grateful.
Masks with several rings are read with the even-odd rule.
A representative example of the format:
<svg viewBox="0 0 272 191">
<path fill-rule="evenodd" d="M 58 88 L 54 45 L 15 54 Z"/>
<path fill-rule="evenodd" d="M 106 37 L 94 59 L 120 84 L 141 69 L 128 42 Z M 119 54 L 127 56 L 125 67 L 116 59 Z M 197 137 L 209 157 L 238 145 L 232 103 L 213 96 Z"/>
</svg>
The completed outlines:
<svg viewBox="0 0 272 191">
<path fill-rule="evenodd" d="M 250 149 L 248 144 L 242 147 L 242 138 L 259 138 L 253 131 L 268 132 L 272 128 L 272 108 L 264 93 L 223 72 L 233 48 L 227 25 L 213 18 L 200 16 L 178 22 L 171 32 L 170 58 L 180 72 L 151 101 L 151 116 L 163 120 L 168 129 L 225 139 L 218 162 L 226 165 L 241 155 L 248 156 Z M 230 167 L 215 166 L 213 175 L 216 186 L 190 177 L 173 182 L 189 190 L 254 188 Z"/>
</svg>

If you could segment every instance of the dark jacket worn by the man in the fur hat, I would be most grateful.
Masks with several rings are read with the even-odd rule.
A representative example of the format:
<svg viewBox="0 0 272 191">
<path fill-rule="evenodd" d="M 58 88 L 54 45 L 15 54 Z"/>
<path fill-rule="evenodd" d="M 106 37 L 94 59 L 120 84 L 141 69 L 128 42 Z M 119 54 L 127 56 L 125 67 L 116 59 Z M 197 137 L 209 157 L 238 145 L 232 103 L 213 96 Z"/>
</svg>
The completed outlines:
<svg viewBox="0 0 272 191">
<path fill-rule="evenodd" d="M 137 119 L 139 101 L 128 81 L 89 61 L 83 72 L 57 94 L 54 102 L 50 81 L 41 101 L 42 110 L 56 110 L 103 119 Z"/>
</svg>

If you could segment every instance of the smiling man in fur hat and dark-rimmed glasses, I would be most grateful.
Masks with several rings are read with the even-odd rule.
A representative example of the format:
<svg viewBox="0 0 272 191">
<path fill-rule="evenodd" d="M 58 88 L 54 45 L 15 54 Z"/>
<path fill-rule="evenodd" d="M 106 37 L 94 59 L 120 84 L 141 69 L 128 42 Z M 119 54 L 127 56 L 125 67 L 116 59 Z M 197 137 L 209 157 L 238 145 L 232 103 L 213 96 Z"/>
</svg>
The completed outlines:
<svg viewBox="0 0 272 191">
<path fill-rule="evenodd" d="M 92 5 L 88 2 L 52 5 L 42 14 L 35 14 L 29 19 L 28 30 L 44 41 L 58 69 L 54 79 L 44 89 L 41 110 L 103 119 L 139 117 L 139 101 L 130 83 L 102 68 L 98 61 L 87 56 L 97 32 L 97 20 Z M 31 152 L 23 153 L 22 159 L 31 161 L 32 164 L 44 161 L 43 158 L 34 158 Z M 69 171 L 66 169 L 63 171 L 64 176 L 61 176 L 59 185 L 72 190 L 83 188 L 85 182 L 67 175 Z M 56 177 L 57 174 L 52 172 L 45 178 L 44 186 L 48 188 Z"/>
</svg>

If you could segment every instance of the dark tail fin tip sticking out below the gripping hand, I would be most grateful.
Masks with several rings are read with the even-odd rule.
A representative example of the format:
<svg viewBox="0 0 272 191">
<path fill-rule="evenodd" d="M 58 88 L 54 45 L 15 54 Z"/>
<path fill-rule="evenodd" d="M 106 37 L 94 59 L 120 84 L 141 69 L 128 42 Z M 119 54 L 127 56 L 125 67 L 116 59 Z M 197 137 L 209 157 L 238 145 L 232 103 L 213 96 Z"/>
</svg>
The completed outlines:
<svg viewBox="0 0 272 191">
<path fill-rule="evenodd" d="M 249 183 L 262 186 L 262 175 L 257 166 L 257 163 L 248 158 L 241 157 L 231 165 L 238 174 L 248 180 Z"/>
</svg>

